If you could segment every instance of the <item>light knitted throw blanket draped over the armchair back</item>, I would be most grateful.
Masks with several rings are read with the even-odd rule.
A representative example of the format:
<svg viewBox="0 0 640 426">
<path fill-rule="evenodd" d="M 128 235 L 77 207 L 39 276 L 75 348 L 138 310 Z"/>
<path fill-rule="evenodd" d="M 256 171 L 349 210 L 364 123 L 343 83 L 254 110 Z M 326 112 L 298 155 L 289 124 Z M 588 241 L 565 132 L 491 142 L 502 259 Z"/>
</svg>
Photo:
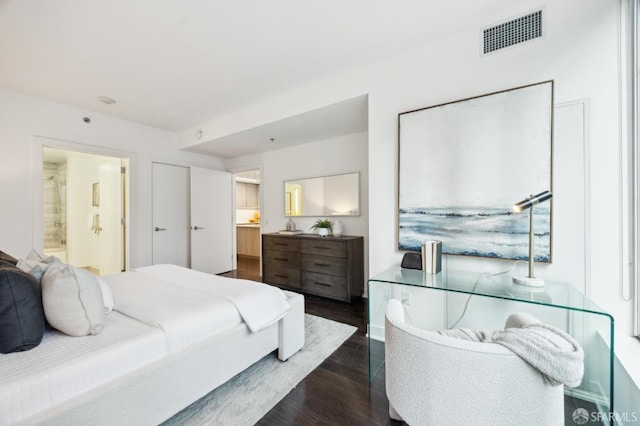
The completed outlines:
<svg viewBox="0 0 640 426">
<path fill-rule="evenodd" d="M 441 330 L 439 334 L 476 342 L 505 346 L 538 369 L 546 381 L 556 386 L 576 387 L 584 374 L 584 352 L 567 333 L 543 324 L 529 314 L 509 316 L 504 331 Z"/>
</svg>

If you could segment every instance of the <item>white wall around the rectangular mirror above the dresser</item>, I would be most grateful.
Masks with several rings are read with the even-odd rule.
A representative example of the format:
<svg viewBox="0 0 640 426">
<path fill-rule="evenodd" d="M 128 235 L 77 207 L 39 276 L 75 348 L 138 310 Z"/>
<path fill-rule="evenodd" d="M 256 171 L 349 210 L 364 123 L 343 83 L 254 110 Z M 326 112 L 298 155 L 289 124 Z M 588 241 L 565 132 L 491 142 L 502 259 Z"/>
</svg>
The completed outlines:
<svg viewBox="0 0 640 426">
<path fill-rule="evenodd" d="M 356 133 L 305 145 L 268 151 L 258 155 L 226 161 L 230 172 L 261 168 L 260 201 L 261 232 L 286 229 L 284 216 L 284 181 L 360 172 L 360 216 L 339 217 L 344 235 L 364 236 L 365 275 L 368 270 L 369 173 L 367 166 L 367 133 Z M 331 217 L 328 217 L 332 219 Z M 296 217 L 296 228 L 309 230 L 318 217 Z"/>
</svg>

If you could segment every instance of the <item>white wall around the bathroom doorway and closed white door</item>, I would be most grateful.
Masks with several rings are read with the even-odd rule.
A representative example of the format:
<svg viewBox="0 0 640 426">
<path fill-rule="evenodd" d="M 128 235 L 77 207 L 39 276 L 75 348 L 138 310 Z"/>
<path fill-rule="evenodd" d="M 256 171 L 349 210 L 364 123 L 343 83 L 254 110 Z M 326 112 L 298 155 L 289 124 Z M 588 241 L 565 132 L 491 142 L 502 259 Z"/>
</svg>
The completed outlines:
<svg viewBox="0 0 640 426">
<path fill-rule="evenodd" d="M 131 158 L 131 267 L 151 258 L 151 161 L 224 170 L 215 157 L 179 151 L 173 133 L 0 90 L 0 250 L 17 257 L 43 246 L 43 141 Z"/>
</svg>

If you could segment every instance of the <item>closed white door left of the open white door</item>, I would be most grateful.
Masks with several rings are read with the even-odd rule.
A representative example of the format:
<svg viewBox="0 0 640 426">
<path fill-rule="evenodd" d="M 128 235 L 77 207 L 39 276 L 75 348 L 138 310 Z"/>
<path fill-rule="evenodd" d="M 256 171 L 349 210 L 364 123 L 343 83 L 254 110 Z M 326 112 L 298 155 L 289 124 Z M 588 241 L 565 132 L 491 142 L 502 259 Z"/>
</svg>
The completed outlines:
<svg viewBox="0 0 640 426">
<path fill-rule="evenodd" d="M 152 263 L 190 267 L 189 168 L 153 163 Z"/>
</svg>

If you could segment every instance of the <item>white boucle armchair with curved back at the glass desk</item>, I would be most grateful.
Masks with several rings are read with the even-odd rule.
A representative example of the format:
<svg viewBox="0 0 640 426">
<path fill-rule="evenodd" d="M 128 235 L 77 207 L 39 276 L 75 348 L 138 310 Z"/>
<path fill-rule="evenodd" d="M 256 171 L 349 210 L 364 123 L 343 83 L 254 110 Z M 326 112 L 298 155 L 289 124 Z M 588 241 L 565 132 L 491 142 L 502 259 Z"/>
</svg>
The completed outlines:
<svg viewBox="0 0 640 426">
<path fill-rule="evenodd" d="M 420 330 L 390 300 L 385 319 L 389 414 L 416 425 L 563 425 L 563 386 L 496 343 Z"/>
</svg>

